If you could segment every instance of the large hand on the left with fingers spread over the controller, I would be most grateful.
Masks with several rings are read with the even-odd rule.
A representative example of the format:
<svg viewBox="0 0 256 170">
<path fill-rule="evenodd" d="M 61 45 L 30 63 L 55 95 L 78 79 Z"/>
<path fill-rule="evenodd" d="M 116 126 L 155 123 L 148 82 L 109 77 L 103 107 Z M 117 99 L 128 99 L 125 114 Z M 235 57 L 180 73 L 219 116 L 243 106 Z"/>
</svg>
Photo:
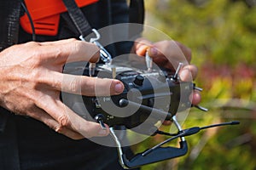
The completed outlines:
<svg viewBox="0 0 256 170">
<path fill-rule="evenodd" d="M 96 62 L 98 48 L 75 39 L 27 42 L 0 53 L 0 105 L 15 114 L 31 116 L 72 139 L 105 136 L 96 122 L 88 122 L 61 102 L 61 91 L 93 96 L 120 94 L 118 80 L 62 73 L 74 61 Z M 95 89 L 102 89 L 95 91 Z"/>
</svg>

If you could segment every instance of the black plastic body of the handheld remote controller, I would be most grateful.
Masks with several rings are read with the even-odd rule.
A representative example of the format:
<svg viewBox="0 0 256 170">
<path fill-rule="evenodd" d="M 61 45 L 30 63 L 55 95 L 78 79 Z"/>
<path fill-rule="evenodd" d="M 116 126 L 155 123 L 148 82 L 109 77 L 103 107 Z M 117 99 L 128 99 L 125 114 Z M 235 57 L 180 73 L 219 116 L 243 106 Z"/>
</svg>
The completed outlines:
<svg viewBox="0 0 256 170">
<path fill-rule="evenodd" d="M 179 82 L 162 71 L 140 71 L 118 67 L 115 78 L 124 83 L 122 94 L 113 96 L 83 96 L 84 105 L 90 116 L 102 116 L 109 127 L 124 125 L 127 128 L 151 127 L 154 123 L 171 120 L 177 111 L 191 107 L 189 95 L 192 82 Z M 84 75 L 88 74 L 84 71 Z M 96 69 L 97 77 L 113 77 L 113 69 Z M 108 89 L 106 89 L 108 90 Z"/>
</svg>

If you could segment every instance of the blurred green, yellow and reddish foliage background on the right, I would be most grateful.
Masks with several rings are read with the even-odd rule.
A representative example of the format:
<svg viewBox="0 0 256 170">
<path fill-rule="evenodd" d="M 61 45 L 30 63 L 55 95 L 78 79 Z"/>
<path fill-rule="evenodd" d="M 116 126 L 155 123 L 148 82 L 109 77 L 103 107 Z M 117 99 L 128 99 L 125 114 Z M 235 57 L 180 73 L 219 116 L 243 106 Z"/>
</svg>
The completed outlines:
<svg viewBox="0 0 256 170">
<path fill-rule="evenodd" d="M 149 169 L 256 169 L 256 1 L 146 0 L 146 24 L 192 49 L 204 88 L 201 105 L 183 127 L 238 120 L 239 126 L 209 129 L 188 137 L 189 153 Z M 153 35 L 154 36 L 154 35 Z M 134 146 L 144 150 L 156 136 Z"/>
</svg>

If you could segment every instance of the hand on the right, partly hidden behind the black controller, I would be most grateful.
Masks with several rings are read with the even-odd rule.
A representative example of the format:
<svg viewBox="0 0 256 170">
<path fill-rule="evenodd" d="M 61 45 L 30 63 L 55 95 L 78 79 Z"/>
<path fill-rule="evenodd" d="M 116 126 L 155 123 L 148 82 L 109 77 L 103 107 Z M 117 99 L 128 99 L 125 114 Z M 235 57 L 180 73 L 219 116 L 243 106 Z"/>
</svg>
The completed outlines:
<svg viewBox="0 0 256 170">
<path fill-rule="evenodd" d="M 180 42 L 161 41 L 153 43 L 139 38 L 135 42 L 133 50 L 140 56 L 145 56 L 148 51 L 148 55 L 155 64 L 172 71 L 177 69 L 179 63 L 183 63 L 183 67 L 179 71 L 179 77 L 182 81 L 192 82 L 197 75 L 197 67 L 189 64 L 191 50 Z M 198 105 L 201 101 L 201 94 L 195 90 L 190 98 L 193 105 Z"/>
</svg>

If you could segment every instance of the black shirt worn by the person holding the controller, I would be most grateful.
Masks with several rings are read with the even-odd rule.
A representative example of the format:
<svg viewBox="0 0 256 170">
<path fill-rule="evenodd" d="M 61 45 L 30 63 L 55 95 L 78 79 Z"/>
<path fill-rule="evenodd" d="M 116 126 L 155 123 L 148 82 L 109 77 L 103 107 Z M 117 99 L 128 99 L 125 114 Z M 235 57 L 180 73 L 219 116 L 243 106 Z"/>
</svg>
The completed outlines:
<svg viewBox="0 0 256 170">
<path fill-rule="evenodd" d="M 96 29 L 129 21 L 125 0 L 102 0 L 82 10 L 90 26 Z M 58 35 L 37 36 L 37 41 L 79 37 L 79 32 L 68 24 L 68 20 L 70 18 L 67 13 L 61 14 Z M 20 27 L 18 43 L 31 40 L 32 35 Z M 2 46 L 6 48 L 4 46 L 6 44 Z M 121 48 L 112 46 L 110 51 L 118 53 Z M 3 108 L 0 111 L 0 122 L 0 169 L 123 169 L 119 166 L 116 148 L 102 146 L 88 139 L 69 139 L 55 133 L 43 122 L 25 116 L 15 116 Z"/>
</svg>

